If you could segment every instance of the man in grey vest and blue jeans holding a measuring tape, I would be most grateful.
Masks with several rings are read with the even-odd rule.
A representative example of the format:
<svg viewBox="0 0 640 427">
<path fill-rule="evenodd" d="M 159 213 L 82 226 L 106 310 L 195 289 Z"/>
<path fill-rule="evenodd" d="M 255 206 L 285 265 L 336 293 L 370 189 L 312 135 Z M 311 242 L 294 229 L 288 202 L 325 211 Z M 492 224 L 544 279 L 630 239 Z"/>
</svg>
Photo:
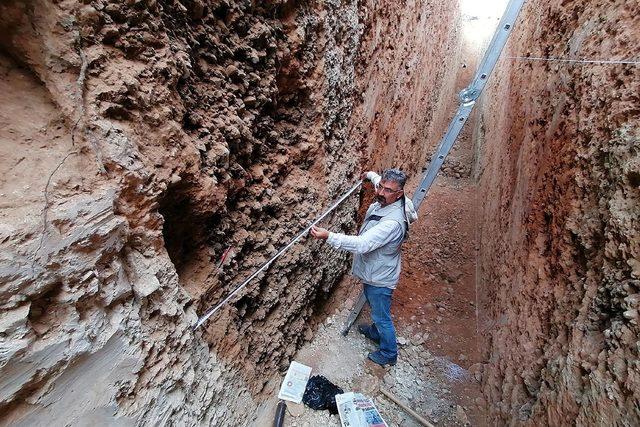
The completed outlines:
<svg viewBox="0 0 640 427">
<path fill-rule="evenodd" d="M 400 279 L 400 248 L 417 214 L 404 195 L 404 172 L 387 169 L 382 177 L 367 172 L 363 179 L 369 179 L 376 187 L 376 202 L 369 206 L 360 233 L 347 236 L 313 227 L 311 235 L 355 254 L 352 274 L 362 280 L 373 320 L 372 325 L 360 325 L 358 330 L 380 345 L 378 351 L 369 353 L 369 359 L 381 366 L 395 365 L 398 347 L 391 319 L 391 295 Z"/>
</svg>

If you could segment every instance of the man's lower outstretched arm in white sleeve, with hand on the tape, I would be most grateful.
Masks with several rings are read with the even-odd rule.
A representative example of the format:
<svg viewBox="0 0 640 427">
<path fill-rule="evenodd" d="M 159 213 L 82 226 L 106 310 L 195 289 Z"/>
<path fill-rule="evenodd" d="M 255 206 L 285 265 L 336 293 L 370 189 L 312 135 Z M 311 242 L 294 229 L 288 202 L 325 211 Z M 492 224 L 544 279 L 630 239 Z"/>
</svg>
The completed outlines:
<svg viewBox="0 0 640 427">
<path fill-rule="evenodd" d="M 380 221 L 360 236 L 332 233 L 321 227 L 311 228 L 311 235 L 324 239 L 336 249 L 366 254 L 402 236 L 402 226 L 395 221 Z"/>
</svg>

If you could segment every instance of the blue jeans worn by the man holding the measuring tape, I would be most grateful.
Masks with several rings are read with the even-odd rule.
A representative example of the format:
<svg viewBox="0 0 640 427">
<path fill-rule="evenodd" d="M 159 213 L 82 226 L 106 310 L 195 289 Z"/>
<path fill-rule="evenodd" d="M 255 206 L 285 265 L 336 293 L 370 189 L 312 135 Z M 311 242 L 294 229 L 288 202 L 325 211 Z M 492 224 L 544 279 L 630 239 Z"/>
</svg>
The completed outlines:
<svg viewBox="0 0 640 427">
<path fill-rule="evenodd" d="M 391 295 L 393 289 L 371 286 L 363 283 L 364 295 L 371 307 L 373 325 L 370 332 L 374 340 L 380 340 L 380 353 L 384 357 L 395 359 L 398 357 L 396 344 L 396 330 L 391 320 Z"/>
</svg>

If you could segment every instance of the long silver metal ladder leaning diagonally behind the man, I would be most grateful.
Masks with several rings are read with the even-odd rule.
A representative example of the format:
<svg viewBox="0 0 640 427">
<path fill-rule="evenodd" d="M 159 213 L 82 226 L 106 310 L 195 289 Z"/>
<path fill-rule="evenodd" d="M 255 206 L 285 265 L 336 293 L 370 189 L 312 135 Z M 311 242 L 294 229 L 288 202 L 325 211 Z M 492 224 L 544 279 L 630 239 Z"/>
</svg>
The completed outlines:
<svg viewBox="0 0 640 427">
<path fill-rule="evenodd" d="M 487 80 L 491 75 L 491 72 L 496 66 L 498 59 L 500 58 L 500 54 L 504 46 L 507 44 L 507 40 L 509 39 L 509 35 L 513 30 L 513 26 L 520 14 L 520 10 L 522 9 L 523 4 L 526 0 L 510 0 L 507 4 L 507 7 L 500 19 L 500 23 L 498 24 L 496 31 L 493 34 L 491 42 L 487 47 L 487 50 L 484 53 L 484 57 L 482 58 L 482 62 L 478 66 L 476 70 L 476 74 L 471 81 L 471 84 L 467 86 L 465 89 L 460 91 L 458 95 L 458 111 L 456 111 L 455 116 L 451 119 L 451 123 L 449 123 L 449 127 L 447 128 L 446 133 L 440 140 L 440 144 L 438 145 L 438 149 L 435 154 L 431 158 L 431 163 L 429 163 L 429 168 L 425 172 L 422 177 L 422 181 L 418 185 L 415 193 L 413 194 L 413 206 L 416 211 L 419 209 L 422 204 L 425 196 L 429 192 L 433 181 L 436 179 L 438 172 L 440 172 L 440 168 L 444 163 L 445 158 L 451 151 L 451 147 L 455 144 L 460 132 L 464 124 L 467 122 L 473 107 L 476 104 L 476 101 L 482 94 L 482 90 L 487 84 Z M 349 329 L 356 321 L 356 318 L 360 314 L 362 307 L 364 307 L 364 303 L 366 302 L 366 298 L 364 296 L 364 292 L 360 292 L 360 296 L 356 301 L 355 305 L 351 309 L 349 316 L 347 317 L 347 321 L 345 322 L 344 329 L 342 331 L 342 335 L 346 336 L 349 333 Z"/>
</svg>

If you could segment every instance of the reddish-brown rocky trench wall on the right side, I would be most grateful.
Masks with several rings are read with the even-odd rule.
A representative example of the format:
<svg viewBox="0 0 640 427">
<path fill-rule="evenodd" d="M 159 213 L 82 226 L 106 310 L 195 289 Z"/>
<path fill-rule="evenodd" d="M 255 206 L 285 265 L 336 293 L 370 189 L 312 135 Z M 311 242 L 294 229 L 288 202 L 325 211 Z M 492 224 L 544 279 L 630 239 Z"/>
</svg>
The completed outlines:
<svg viewBox="0 0 640 427">
<path fill-rule="evenodd" d="M 626 1 L 527 2 L 507 56 L 640 57 Z M 502 59 L 478 135 L 492 418 L 640 419 L 640 69 Z"/>
</svg>

